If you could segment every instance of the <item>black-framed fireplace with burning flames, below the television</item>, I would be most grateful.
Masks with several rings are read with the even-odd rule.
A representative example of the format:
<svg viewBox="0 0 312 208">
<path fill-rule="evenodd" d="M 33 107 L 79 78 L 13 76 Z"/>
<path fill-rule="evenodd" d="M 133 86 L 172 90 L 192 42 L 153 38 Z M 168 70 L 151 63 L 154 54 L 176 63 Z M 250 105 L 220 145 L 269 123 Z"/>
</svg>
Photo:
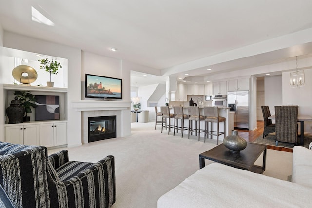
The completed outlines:
<svg viewBox="0 0 312 208">
<path fill-rule="evenodd" d="M 116 138 L 116 115 L 88 117 L 88 142 Z"/>
</svg>

